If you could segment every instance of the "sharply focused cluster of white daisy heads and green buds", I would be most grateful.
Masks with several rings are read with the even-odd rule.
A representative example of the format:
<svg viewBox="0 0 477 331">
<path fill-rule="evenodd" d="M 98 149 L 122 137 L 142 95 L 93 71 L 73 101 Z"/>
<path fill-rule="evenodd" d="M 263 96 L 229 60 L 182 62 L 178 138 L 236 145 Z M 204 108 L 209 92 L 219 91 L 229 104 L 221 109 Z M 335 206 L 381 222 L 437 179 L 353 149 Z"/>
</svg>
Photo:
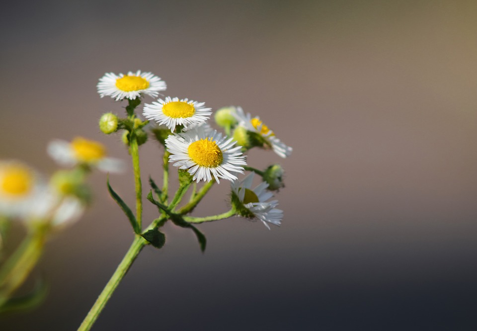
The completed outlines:
<svg viewBox="0 0 477 331">
<path fill-rule="evenodd" d="M 159 83 L 160 82 L 160 83 Z M 166 84 L 159 81 L 157 76 L 150 73 L 136 74 L 129 72 L 127 76 L 113 73 L 105 74 L 97 85 L 101 97 L 111 96 L 115 100 L 132 100 L 142 94 L 156 96 L 156 91 L 165 89 Z M 139 104 L 139 103 L 138 103 Z M 136 105 L 137 106 L 137 105 Z M 129 120 L 135 117 L 129 114 Z M 267 202 L 273 196 L 271 190 L 283 187 L 283 169 L 280 165 L 270 165 L 261 171 L 247 165 L 244 153 L 253 148 L 271 149 L 282 158 L 289 157 L 292 148 L 282 143 L 258 116 L 252 117 L 241 107 L 225 107 L 219 109 L 215 115 L 216 123 L 224 128 L 226 135 L 211 128 L 208 120 L 212 115 L 211 108 L 205 107 L 204 102 L 189 100 L 188 98 L 166 96 L 152 103 L 146 103 L 142 115 L 157 123 L 153 129 L 156 138 L 164 145 L 168 153 L 168 162 L 179 169 L 186 170 L 191 180 L 199 183 L 220 178 L 232 182 L 231 204 L 235 215 L 250 219 L 259 219 L 267 224 L 280 225 L 283 213 L 276 209 L 276 200 Z M 110 113 L 104 114 L 101 129 L 104 133 L 111 133 L 116 128 L 126 128 L 126 136 L 134 134 L 131 125 L 117 126 L 117 121 L 111 123 Z M 119 119 L 126 123 L 127 119 Z M 101 125 L 101 123 L 100 123 Z M 161 129 L 161 126 L 167 129 Z M 106 129 L 107 128 L 113 128 Z M 169 130 L 169 131 L 167 131 Z M 232 132 L 233 130 L 233 132 Z M 128 143 L 128 140 L 125 140 Z M 245 170 L 251 174 L 240 180 L 237 174 Z M 263 181 L 253 190 L 250 189 L 253 173 L 259 174 Z M 268 189 L 267 189 L 268 188 Z M 197 222 L 198 223 L 198 222 Z"/>
</svg>

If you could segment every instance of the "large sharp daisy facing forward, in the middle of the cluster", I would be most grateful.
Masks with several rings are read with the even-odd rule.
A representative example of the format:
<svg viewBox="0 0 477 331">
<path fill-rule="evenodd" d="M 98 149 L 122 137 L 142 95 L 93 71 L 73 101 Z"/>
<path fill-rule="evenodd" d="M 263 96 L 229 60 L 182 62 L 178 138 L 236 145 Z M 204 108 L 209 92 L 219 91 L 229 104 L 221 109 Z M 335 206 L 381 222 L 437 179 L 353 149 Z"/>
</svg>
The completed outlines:
<svg viewBox="0 0 477 331">
<path fill-rule="evenodd" d="M 230 173 L 243 173 L 246 165 L 245 157 L 240 151 L 241 146 L 233 147 L 234 139 L 222 138 L 216 130 L 207 133 L 203 127 L 189 130 L 180 134 L 170 135 L 165 140 L 167 151 L 171 154 L 169 162 L 180 169 L 187 169 L 192 180 L 211 181 L 212 176 L 219 182 L 220 178 L 235 180 L 237 177 Z"/>
</svg>

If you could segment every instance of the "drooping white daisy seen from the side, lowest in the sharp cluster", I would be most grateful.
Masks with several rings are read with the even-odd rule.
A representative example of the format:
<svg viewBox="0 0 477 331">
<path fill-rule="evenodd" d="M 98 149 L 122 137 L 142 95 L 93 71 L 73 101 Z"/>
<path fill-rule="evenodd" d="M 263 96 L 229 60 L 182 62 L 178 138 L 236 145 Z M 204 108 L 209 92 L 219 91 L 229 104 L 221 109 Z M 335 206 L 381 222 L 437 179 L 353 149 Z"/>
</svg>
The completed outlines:
<svg viewBox="0 0 477 331">
<path fill-rule="evenodd" d="M 261 182 L 257 187 L 251 189 L 254 173 L 251 172 L 241 181 L 232 183 L 232 204 L 237 209 L 240 216 L 247 218 L 258 218 L 270 229 L 267 223 L 280 225 L 283 218 L 283 211 L 276 209 L 277 200 L 266 202 L 273 197 L 273 193 L 266 188 L 268 184 Z"/>
</svg>

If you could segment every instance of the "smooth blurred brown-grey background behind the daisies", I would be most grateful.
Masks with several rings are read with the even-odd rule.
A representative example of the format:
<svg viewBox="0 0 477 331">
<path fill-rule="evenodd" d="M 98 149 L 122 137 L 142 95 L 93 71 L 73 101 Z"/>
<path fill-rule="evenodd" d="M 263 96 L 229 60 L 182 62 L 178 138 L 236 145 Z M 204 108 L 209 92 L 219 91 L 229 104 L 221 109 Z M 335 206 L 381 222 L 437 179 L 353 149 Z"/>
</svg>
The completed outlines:
<svg viewBox="0 0 477 331">
<path fill-rule="evenodd" d="M 129 163 L 97 127 L 125 104 L 96 83 L 138 69 L 294 148 L 248 157 L 286 170 L 280 228 L 200 225 L 203 254 L 166 226 L 93 330 L 477 330 L 476 1 L 10 1 L 1 17 L 2 159 L 51 173 L 48 142 L 81 135 Z M 140 151 L 143 182 L 160 180 L 158 145 Z M 132 205 L 131 171 L 110 180 Z M 133 239 L 105 181 L 33 274 L 45 303 L 0 330 L 78 328 Z M 226 211 L 228 192 L 194 215 Z"/>
</svg>

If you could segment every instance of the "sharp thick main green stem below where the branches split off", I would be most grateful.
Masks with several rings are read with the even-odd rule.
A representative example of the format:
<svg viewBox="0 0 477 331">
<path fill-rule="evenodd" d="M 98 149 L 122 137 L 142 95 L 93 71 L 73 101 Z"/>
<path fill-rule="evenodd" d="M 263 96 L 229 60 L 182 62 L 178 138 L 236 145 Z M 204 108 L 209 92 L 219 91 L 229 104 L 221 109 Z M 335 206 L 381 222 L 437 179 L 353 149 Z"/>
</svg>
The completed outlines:
<svg viewBox="0 0 477 331">
<path fill-rule="evenodd" d="M 91 329 L 94 322 L 97 320 L 99 314 L 104 309 L 104 306 L 106 306 L 106 303 L 108 302 L 109 298 L 111 298 L 111 295 L 113 294 L 114 290 L 116 290 L 119 283 L 124 278 L 129 268 L 133 264 L 134 260 L 147 243 L 148 242 L 143 237 L 141 237 L 140 235 L 136 235 L 131 247 L 127 251 L 126 255 L 124 255 L 121 263 L 119 263 L 118 267 L 116 268 L 116 271 L 114 271 L 113 275 L 109 279 L 108 283 L 104 287 L 98 299 L 91 307 L 91 310 L 89 311 L 88 315 L 79 326 L 78 331 L 85 331 Z"/>
</svg>

